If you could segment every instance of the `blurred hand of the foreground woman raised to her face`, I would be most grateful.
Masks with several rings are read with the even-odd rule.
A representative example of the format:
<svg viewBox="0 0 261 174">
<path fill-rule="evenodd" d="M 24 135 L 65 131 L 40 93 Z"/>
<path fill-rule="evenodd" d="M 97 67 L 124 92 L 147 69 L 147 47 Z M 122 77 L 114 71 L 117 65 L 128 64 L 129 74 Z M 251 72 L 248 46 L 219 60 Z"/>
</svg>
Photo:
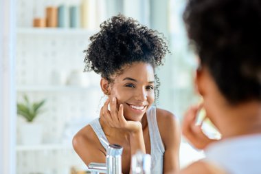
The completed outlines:
<svg viewBox="0 0 261 174">
<path fill-rule="evenodd" d="M 198 111 L 202 108 L 201 105 L 194 106 L 188 109 L 185 113 L 183 124 L 182 124 L 182 133 L 183 135 L 197 148 L 205 149 L 212 142 L 217 140 L 212 140 L 205 135 L 201 129 L 202 123 L 196 125 L 196 116 Z"/>
</svg>

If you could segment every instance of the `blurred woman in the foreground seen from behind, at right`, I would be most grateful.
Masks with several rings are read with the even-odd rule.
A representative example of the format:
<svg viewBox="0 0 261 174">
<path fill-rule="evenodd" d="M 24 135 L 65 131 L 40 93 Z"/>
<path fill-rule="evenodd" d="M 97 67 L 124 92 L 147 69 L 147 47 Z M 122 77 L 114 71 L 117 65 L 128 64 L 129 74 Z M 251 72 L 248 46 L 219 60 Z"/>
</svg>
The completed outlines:
<svg viewBox="0 0 261 174">
<path fill-rule="evenodd" d="M 204 102 L 185 114 L 183 134 L 206 157 L 182 174 L 261 171 L 260 9 L 255 0 L 188 1 L 184 19 L 200 59 L 196 87 Z M 210 140 L 195 125 L 201 107 L 221 140 Z"/>
</svg>

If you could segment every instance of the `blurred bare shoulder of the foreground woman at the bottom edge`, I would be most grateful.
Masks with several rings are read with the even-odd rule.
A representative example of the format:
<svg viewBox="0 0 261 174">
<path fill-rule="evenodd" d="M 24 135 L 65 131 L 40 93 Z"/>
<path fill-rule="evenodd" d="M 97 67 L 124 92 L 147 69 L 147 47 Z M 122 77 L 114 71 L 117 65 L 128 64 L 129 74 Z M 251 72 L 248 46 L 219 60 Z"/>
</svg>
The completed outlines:
<svg viewBox="0 0 261 174">
<path fill-rule="evenodd" d="M 181 170 L 178 174 L 193 174 L 193 173 L 201 173 L 201 174 L 226 174 L 222 169 L 208 164 L 207 162 L 198 161 L 194 162 L 190 166 Z"/>
</svg>

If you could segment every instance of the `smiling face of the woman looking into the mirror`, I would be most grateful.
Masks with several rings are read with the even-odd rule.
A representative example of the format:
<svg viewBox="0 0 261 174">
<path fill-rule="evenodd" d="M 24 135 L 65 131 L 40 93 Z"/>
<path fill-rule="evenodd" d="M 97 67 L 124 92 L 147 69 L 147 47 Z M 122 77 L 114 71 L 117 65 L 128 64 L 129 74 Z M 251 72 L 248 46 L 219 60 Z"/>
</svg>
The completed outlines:
<svg viewBox="0 0 261 174">
<path fill-rule="evenodd" d="M 124 106 L 126 120 L 140 121 L 155 100 L 154 69 L 148 63 L 133 63 L 113 77 L 109 98 L 117 98 L 117 107 Z"/>
</svg>

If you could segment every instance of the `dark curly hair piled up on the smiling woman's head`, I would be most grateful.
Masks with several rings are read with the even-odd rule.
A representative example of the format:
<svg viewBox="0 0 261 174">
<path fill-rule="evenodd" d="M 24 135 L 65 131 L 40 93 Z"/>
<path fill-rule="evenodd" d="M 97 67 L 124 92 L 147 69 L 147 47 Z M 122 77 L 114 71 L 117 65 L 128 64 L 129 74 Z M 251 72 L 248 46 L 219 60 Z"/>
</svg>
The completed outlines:
<svg viewBox="0 0 261 174">
<path fill-rule="evenodd" d="M 136 62 L 149 63 L 155 69 L 163 65 L 168 51 L 164 37 L 132 18 L 118 14 L 100 25 L 100 32 L 90 37 L 84 58 L 84 72 L 94 71 L 113 83 L 111 76 L 121 74 Z M 159 96 L 159 78 L 155 74 L 155 98 Z"/>
</svg>

